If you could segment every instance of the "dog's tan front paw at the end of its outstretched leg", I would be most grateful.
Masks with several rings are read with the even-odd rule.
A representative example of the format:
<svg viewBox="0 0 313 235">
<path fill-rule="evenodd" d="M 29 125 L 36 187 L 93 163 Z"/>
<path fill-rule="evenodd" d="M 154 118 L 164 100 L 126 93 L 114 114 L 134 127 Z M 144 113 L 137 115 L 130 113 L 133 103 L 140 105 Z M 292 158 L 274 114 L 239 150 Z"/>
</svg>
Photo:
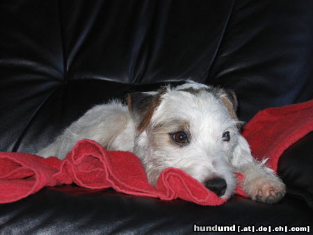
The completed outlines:
<svg viewBox="0 0 313 235">
<path fill-rule="evenodd" d="M 250 196 L 257 202 L 272 204 L 284 197 L 286 188 L 277 177 L 261 177 L 250 182 Z"/>
</svg>

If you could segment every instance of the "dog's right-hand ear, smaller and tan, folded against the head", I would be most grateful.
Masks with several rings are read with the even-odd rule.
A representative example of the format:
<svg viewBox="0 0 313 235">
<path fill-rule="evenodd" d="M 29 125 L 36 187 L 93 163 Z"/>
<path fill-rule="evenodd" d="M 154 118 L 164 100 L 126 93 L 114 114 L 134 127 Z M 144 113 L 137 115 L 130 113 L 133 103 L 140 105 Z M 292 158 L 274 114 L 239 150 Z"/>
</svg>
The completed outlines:
<svg viewBox="0 0 313 235">
<path fill-rule="evenodd" d="M 216 95 L 225 104 L 228 112 L 230 113 L 230 116 L 234 120 L 238 120 L 238 117 L 236 115 L 236 111 L 237 111 L 237 107 L 238 107 L 238 101 L 237 101 L 235 93 L 232 90 L 226 90 L 223 88 L 218 88 L 216 90 Z"/>
</svg>

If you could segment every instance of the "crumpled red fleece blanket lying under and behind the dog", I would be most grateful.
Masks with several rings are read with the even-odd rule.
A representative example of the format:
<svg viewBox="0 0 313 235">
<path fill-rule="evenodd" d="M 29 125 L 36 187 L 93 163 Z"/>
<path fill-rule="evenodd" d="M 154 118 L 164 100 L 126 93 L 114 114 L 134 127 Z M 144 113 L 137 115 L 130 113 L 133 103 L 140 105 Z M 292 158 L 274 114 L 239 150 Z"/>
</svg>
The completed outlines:
<svg viewBox="0 0 313 235">
<path fill-rule="evenodd" d="M 269 158 L 277 170 L 287 147 L 313 130 L 313 101 L 260 111 L 243 129 L 257 159 Z M 85 188 L 114 188 L 130 195 L 181 198 L 202 205 L 225 200 L 176 168 L 161 172 L 157 187 L 147 182 L 138 158 L 130 152 L 106 151 L 92 140 L 81 140 L 63 160 L 56 157 L 0 152 L 0 203 L 15 202 L 45 186 L 77 184 Z M 244 195 L 240 188 L 237 193 Z"/>
</svg>

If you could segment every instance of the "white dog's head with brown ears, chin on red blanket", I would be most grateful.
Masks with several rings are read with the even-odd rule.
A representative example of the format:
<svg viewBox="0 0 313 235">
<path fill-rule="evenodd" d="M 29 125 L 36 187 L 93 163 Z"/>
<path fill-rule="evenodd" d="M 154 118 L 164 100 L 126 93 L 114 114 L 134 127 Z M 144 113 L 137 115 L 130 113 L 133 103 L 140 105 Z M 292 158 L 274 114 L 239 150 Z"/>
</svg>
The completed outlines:
<svg viewBox="0 0 313 235">
<path fill-rule="evenodd" d="M 235 179 L 230 163 L 239 136 L 233 92 L 193 81 L 156 92 L 129 95 L 129 111 L 150 184 L 162 170 L 180 168 L 220 197 L 230 197 Z"/>
</svg>

